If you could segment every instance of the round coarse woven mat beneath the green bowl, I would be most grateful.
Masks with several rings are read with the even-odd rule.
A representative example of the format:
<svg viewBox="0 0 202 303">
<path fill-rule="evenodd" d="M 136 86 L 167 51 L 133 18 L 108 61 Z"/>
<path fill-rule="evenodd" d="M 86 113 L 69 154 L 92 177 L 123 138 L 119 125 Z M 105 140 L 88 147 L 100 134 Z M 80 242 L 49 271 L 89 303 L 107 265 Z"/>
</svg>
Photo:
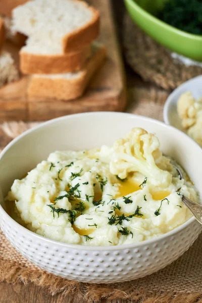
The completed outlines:
<svg viewBox="0 0 202 303">
<path fill-rule="evenodd" d="M 202 67 L 186 66 L 173 59 L 171 52 L 144 34 L 127 14 L 124 16 L 122 36 L 126 61 L 145 81 L 173 89 L 202 74 Z"/>
</svg>

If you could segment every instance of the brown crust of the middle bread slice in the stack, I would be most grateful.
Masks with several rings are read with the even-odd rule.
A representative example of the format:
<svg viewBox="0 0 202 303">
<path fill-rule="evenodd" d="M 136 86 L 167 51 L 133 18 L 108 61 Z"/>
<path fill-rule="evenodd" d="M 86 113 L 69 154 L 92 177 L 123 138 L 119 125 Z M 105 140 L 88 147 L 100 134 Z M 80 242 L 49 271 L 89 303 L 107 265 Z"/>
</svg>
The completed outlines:
<svg viewBox="0 0 202 303">
<path fill-rule="evenodd" d="M 20 51 L 20 70 L 24 74 L 61 74 L 81 70 L 91 55 L 91 45 L 79 52 L 38 55 Z"/>
</svg>

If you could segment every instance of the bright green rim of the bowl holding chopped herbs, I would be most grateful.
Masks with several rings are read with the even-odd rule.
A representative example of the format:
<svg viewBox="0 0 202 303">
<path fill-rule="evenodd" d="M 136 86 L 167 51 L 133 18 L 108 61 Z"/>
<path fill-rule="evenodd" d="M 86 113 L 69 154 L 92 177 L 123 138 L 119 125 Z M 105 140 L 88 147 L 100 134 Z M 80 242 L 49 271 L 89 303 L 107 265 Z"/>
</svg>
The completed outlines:
<svg viewBox="0 0 202 303">
<path fill-rule="evenodd" d="M 175 26 L 172 26 L 166 22 L 164 22 L 163 20 L 157 18 L 156 16 L 150 14 L 149 12 L 147 12 L 146 10 L 142 9 L 136 2 L 136 0 L 124 0 L 125 3 L 129 3 L 131 6 L 135 7 L 135 9 L 142 15 L 144 15 L 145 17 L 147 17 L 148 19 L 150 19 L 150 21 L 156 22 L 159 25 L 163 26 L 164 28 L 168 28 L 174 32 L 176 32 L 178 35 L 187 37 L 187 38 L 191 38 L 197 41 L 202 41 L 202 35 L 196 35 L 196 34 L 192 34 L 189 32 L 186 32 L 184 30 L 178 29 Z"/>
</svg>

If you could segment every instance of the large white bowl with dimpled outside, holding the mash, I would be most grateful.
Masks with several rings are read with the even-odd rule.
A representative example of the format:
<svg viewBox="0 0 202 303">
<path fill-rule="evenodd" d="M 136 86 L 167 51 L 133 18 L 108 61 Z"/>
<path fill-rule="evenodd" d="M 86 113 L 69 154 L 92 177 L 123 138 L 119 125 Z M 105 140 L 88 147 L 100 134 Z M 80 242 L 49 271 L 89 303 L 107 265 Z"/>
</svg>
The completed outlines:
<svg viewBox="0 0 202 303">
<path fill-rule="evenodd" d="M 112 144 L 136 126 L 157 134 L 163 153 L 184 167 L 202 195 L 202 166 L 198 165 L 202 162 L 202 149 L 173 127 L 141 116 L 110 112 L 77 114 L 48 121 L 13 140 L 0 158 L 1 227 L 24 257 L 64 278 L 114 283 L 154 273 L 189 248 L 202 229 L 194 218 L 152 240 L 119 246 L 82 246 L 39 236 L 15 222 L 3 208 L 3 197 L 14 179 L 22 178 L 52 151 Z"/>
</svg>

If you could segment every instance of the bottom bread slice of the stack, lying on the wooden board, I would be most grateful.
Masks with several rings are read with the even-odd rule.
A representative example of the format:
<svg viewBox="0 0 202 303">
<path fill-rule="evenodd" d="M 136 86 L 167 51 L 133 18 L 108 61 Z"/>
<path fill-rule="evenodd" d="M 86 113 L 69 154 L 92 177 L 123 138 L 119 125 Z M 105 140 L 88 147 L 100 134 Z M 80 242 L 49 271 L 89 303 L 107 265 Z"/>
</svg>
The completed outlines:
<svg viewBox="0 0 202 303">
<path fill-rule="evenodd" d="M 106 57 L 105 46 L 93 46 L 85 68 L 76 73 L 33 75 L 28 87 L 29 99 L 75 99 L 81 96 L 94 72 Z"/>
</svg>

